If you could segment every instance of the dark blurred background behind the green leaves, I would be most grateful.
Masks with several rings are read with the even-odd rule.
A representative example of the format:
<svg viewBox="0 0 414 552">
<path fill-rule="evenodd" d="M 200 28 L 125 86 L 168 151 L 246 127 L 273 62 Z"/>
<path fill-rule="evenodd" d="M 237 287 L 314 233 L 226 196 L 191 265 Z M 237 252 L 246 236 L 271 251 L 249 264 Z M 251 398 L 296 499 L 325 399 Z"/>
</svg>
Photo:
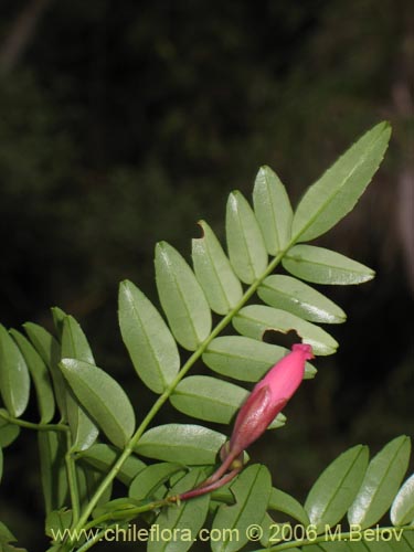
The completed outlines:
<svg viewBox="0 0 414 552">
<path fill-rule="evenodd" d="M 320 287 L 348 314 L 329 329 L 338 354 L 252 457 L 304 498 L 344 448 L 414 436 L 412 1 L 1 0 L 0 14 L 1 322 L 71 312 L 141 415 L 153 397 L 121 347 L 119 280 L 156 300 L 157 241 L 189 258 L 201 217 L 223 237 L 229 192 L 248 195 L 264 163 L 296 203 L 389 119 L 374 183 L 317 242 L 376 278 Z M 6 450 L 0 518 L 42 550 L 35 464 L 25 432 Z"/>
</svg>

